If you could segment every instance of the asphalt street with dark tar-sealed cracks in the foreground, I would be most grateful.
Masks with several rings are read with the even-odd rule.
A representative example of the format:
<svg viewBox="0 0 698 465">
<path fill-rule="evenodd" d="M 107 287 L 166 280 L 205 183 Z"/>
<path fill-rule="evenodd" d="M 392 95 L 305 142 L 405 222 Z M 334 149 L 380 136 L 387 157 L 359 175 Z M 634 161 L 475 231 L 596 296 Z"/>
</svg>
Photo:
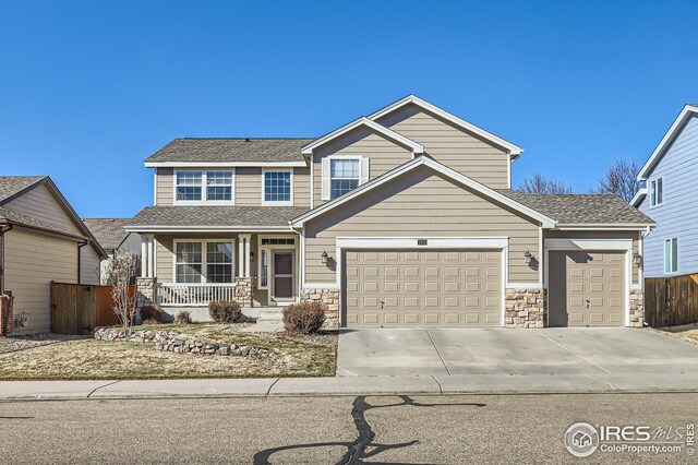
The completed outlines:
<svg viewBox="0 0 698 465">
<path fill-rule="evenodd" d="M 435 395 L 0 403 L 1 463 L 691 463 L 564 445 L 578 421 L 673 433 L 698 394 Z M 671 441 L 670 441 L 671 440 Z"/>
</svg>

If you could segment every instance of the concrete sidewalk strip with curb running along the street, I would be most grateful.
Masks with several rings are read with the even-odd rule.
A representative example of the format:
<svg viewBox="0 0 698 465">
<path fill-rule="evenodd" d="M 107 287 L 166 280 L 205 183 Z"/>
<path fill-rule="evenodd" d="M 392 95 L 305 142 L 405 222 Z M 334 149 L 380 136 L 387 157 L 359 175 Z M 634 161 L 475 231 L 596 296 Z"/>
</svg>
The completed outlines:
<svg viewBox="0 0 698 465">
<path fill-rule="evenodd" d="M 369 394 L 698 392 L 698 373 L 454 374 L 148 381 L 3 381 L 0 400 Z"/>
</svg>

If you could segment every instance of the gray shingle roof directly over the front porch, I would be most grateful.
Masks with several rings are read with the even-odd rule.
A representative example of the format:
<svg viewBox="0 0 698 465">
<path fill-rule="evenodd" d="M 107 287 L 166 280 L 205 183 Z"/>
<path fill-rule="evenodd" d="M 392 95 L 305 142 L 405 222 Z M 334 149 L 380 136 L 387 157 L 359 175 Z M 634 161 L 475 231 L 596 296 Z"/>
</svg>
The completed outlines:
<svg viewBox="0 0 698 465">
<path fill-rule="evenodd" d="M 288 226 L 308 212 L 303 206 L 148 206 L 129 222 L 130 226 Z"/>
</svg>

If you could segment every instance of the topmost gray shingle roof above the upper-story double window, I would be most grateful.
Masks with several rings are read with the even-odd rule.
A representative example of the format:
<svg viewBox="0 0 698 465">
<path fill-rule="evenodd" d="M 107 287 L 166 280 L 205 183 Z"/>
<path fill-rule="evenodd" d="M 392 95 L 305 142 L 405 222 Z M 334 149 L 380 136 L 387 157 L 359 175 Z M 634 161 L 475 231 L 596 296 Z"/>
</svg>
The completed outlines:
<svg viewBox="0 0 698 465">
<path fill-rule="evenodd" d="M 313 139 L 174 139 L 148 162 L 303 162 L 301 147 Z"/>
</svg>

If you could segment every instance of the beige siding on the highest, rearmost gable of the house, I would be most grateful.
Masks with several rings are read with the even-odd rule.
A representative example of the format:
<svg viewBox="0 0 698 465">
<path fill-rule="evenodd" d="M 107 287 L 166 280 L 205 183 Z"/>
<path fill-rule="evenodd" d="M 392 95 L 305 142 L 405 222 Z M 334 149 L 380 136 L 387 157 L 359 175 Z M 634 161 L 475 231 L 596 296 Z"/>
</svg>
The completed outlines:
<svg viewBox="0 0 698 465">
<path fill-rule="evenodd" d="M 417 105 L 406 105 L 377 122 L 422 144 L 425 153 L 438 163 L 485 186 L 493 189 L 509 187 L 506 151 L 425 112 Z"/>
</svg>

